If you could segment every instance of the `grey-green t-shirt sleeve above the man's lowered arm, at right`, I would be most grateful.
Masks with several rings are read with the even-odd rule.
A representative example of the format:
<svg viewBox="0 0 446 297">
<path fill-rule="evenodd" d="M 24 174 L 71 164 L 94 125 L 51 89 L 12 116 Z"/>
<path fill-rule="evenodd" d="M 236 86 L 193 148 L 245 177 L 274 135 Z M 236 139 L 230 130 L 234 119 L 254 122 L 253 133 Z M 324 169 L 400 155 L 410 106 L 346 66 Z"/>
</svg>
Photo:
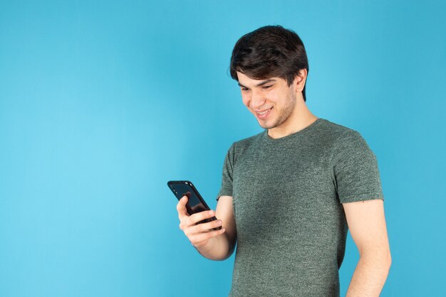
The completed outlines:
<svg viewBox="0 0 446 297">
<path fill-rule="evenodd" d="M 375 153 L 358 131 L 349 130 L 338 139 L 332 161 L 341 203 L 384 200 Z"/>
</svg>

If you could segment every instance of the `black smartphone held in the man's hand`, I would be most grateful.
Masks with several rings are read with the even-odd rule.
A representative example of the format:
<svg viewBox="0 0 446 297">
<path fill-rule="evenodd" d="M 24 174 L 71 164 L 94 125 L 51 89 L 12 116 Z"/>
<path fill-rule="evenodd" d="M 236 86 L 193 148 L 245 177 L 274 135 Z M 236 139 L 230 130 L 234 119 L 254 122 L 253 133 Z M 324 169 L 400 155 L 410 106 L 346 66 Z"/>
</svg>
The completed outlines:
<svg viewBox="0 0 446 297">
<path fill-rule="evenodd" d="M 202 212 L 204 210 L 210 210 L 206 202 L 199 195 L 197 188 L 189 180 L 170 180 L 167 182 L 167 186 L 172 190 L 175 197 L 180 200 L 184 195 L 187 196 L 186 210 L 189 215 L 193 215 L 197 212 Z M 209 219 L 204 219 L 197 222 L 197 224 L 202 224 L 204 222 L 212 222 L 217 220 L 217 217 L 210 217 Z M 215 227 L 212 230 L 222 229 L 222 226 Z"/>
</svg>

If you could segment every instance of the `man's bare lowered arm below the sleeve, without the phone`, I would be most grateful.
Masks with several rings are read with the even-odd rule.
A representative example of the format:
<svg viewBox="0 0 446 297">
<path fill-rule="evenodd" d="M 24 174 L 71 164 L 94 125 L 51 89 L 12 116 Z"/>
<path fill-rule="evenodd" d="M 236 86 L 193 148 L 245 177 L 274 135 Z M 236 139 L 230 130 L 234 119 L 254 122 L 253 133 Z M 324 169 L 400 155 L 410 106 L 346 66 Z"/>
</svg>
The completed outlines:
<svg viewBox="0 0 446 297">
<path fill-rule="evenodd" d="M 383 200 L 343 203 L 343 207 L 360 254 L 346 296 L 379 296 L 392 262 Z"/>
</svg>

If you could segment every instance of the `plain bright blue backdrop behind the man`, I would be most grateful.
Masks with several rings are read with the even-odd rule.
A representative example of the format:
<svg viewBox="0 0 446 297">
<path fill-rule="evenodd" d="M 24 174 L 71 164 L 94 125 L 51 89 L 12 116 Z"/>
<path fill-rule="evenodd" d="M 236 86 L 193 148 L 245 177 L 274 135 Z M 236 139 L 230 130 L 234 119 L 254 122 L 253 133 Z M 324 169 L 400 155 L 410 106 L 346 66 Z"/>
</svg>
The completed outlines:
<svg viewBox="0 0 446 297">
<path fill-rule="evenodd" d="M 445 296 L 445 11 L 1 1 L 0 296 L 227 296 L 234 256 L 195 251 L 166 182 L 192 180 L 215 207 L 227 149 L 261 131 L 231 50 L 267 24 L 306 45 L 309 109 L 378 158 L 393 255 L 381 296 Z M 349 237 L 342 294 L 357 261 Z"/>
</svg>

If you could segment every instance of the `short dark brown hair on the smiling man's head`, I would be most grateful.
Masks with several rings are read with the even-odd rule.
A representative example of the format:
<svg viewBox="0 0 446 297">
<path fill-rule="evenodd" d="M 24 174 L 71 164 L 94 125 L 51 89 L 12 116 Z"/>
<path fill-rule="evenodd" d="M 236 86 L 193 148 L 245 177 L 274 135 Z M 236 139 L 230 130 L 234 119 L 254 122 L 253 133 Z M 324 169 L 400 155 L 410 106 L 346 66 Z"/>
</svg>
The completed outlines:
<svg viewBox="0 0 446 297">
<path fill-rule="evenodd" d="M 264 26 L 245 34 L 234 45 L 231 77 L 238 81 L 237 71 L 254 80 L 281 77 L 290 86 L 299 70 L 308 72 L 304 43 L 296 32 L 282 26 Z M 306 101 L 305 87 L 302 90 Z"/>
</svg>

